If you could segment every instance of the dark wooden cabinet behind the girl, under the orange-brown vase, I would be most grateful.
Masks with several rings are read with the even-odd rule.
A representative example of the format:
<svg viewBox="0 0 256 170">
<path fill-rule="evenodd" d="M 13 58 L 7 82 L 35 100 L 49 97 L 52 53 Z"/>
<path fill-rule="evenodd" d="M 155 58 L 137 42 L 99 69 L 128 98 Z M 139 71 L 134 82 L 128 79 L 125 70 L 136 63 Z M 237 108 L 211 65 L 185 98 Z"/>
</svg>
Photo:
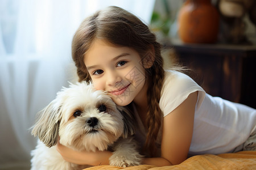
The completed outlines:
<svg viewBox="0 0 256 170">
<path fill-rule="evenodd" d="M 256 108 L 256 46 L 172 44 L 171 48 L 208 94 Z"/>
</svg>

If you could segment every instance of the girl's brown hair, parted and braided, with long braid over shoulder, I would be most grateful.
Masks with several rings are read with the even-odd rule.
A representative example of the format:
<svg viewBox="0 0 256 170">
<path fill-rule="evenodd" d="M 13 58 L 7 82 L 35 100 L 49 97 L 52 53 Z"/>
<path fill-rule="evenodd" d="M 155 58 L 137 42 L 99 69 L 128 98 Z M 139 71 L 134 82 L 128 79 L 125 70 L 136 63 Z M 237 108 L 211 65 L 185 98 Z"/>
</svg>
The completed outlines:
<svg viewBox="0 0 256 170">
<path fill-rule="evenodd" d="M 72 41 L 72 57 L 77 67 L 79 81 L 90 81 L 90 75 L 84 63 L 84 54 L 95 39 L 105 40 L 114 46 L 127 46 L 136 50 L 141 58 L 148 55 L 154 46 L 154 63 L 146 70 L 147 119 L 148 130 L 144 148 L 155 152 L 155 141 L 162 122 L 162 111 L 159 108 L 161 89 L 163 86 L 163 58 L 161 46 L 156 42 L 154 33 L 135 15 L 122 8 L 110 6 L 86 18 L 77 29 Z"/>
</svg>

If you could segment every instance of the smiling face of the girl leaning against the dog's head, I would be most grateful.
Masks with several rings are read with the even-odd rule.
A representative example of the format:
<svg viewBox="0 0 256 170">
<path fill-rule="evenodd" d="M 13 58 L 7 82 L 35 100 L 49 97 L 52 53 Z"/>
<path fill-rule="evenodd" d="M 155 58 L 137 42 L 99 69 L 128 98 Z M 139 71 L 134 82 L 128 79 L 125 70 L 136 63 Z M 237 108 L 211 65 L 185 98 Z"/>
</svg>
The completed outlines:
<svg viewBox="0 0 256 170">
<path fill-rule="evenodd" d="M 145 70 L 138 52 L 96 39 L 84 55 L 84 63 L 97 90 L 108 91 L 124 106 L 145 96 Z"/>
</svg>

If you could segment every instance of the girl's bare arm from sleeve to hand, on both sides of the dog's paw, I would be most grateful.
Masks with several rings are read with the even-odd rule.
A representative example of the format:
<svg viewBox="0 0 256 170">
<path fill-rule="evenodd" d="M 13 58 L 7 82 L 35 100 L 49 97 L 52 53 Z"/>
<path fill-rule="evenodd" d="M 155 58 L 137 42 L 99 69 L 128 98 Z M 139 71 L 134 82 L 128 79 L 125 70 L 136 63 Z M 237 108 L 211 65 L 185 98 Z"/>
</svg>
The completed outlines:
<svg viewBox="0 0 256 170">
<path fill-rule="evenodd" d="M 165 166 L 180 164 L 187 159 L 193 134 L 197 92 L 193 92 L 174 111 L 164 117 L 160 158 L 144 158 L 142 164 Z M 107 165 L 112 152 L 77 152 L 58 143 L 64 160 L 76 164 Z"/>
</svg>

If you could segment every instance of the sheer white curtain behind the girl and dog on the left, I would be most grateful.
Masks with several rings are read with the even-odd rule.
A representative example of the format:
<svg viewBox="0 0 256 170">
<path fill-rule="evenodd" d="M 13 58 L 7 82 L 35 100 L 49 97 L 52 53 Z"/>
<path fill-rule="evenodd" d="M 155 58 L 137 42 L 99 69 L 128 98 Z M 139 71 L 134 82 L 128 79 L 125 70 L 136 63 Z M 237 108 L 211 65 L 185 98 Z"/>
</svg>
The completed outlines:
<svg viewBox="0 0 256 170">
<path fill-rule="evenodd" d="M 149 23 L 154 0 L 0 0 L 0 169 L 30 168 L 35 114 L 76 80 L 72 36 L 109 5 Z"/>
</svg>

